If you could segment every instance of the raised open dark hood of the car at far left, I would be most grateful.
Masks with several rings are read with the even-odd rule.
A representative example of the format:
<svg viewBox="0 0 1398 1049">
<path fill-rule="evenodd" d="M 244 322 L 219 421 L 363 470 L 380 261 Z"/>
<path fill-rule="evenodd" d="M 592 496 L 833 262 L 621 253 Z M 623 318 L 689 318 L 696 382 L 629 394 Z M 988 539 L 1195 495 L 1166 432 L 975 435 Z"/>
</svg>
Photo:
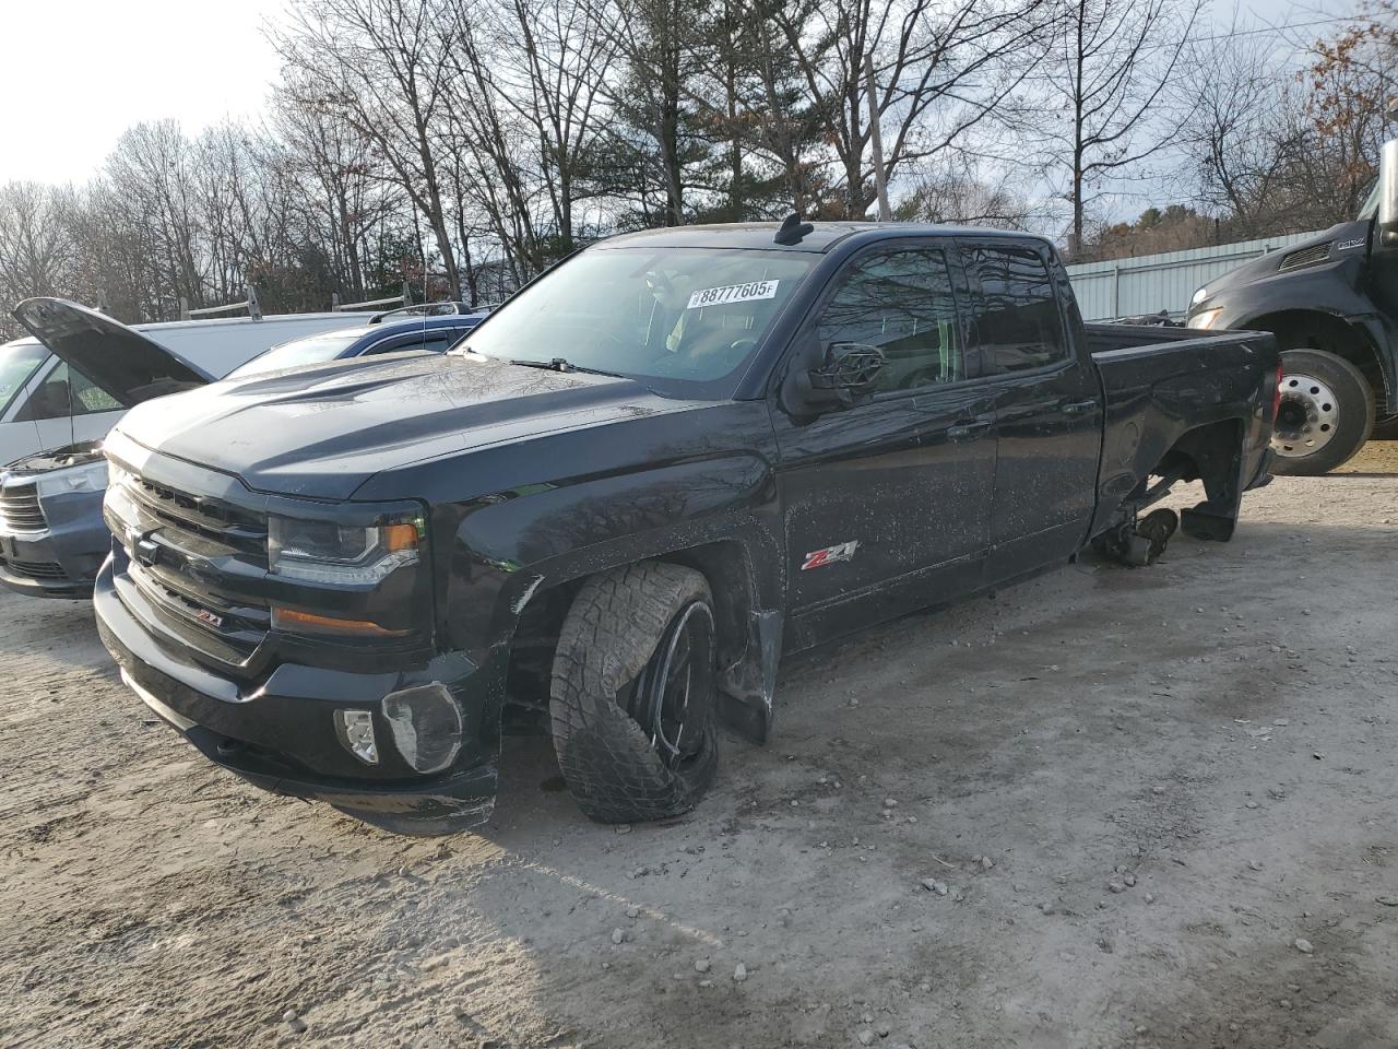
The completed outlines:
<svg viewBox="0 0 1398 1049">
<path fill-rule="evenodd" d="M 126 324 L 55 298 L 25 299 L 14 317 L 126 407 L 214 382 L 214 376 Z"/>
</svg>

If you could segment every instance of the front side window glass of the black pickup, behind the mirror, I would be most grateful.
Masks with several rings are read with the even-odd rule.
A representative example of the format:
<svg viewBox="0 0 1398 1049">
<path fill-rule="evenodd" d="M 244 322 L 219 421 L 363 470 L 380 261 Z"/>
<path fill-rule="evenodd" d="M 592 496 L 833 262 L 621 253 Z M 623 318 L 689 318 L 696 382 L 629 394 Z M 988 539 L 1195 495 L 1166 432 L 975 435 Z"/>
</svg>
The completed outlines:
<svg viewBox="0 0 1398 1049">
<path fill-rule="evenodd" d="M 821 312 L 823 345 L 854 343 L 884 354 L 874 392 L 965 378 L 956 302 L 939 250 L 881 252 L 856 262 Z"/>
</svg>

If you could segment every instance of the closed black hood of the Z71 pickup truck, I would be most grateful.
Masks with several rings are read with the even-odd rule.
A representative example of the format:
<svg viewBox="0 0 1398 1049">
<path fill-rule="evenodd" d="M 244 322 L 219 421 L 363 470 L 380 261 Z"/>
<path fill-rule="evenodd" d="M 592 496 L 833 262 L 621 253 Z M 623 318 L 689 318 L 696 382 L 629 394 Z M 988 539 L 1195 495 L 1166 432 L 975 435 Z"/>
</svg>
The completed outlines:
<svg viewBox="0 0 1398 1049">
<path fill-rule="evenodd" d="M 225 379 L 141 406 L 108 448 L 122 456 L 126 438 L 257 491 L 350 499 L 394 467 L 686 404 L 633 379 L 470 354 L 384 355 Z"/>
</svg>

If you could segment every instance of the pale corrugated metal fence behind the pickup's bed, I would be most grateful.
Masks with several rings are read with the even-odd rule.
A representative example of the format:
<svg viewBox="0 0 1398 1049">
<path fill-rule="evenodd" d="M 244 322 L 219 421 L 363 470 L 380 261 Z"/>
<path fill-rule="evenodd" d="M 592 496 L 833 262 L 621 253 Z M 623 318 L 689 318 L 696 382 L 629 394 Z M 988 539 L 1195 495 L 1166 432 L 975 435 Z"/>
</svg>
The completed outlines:
<svg viewBox="0 0 1398 1049">
<path fill-rule="evenodd" d="M 1138 259 L 1081 263 L 1069 266 L 1068 276 L 1083 320 L 1113 320 L 1159 313 L 1162 309 L 1169 311 L 1172 317 L 1181 319 L 1190 306 L 1190 297 L 1201 284 L 1222 277 L 1248 259 L 1309 236 L 1316 234 L 1268 236 L 1262 241 L 1144 255 Z"/>
</svg>

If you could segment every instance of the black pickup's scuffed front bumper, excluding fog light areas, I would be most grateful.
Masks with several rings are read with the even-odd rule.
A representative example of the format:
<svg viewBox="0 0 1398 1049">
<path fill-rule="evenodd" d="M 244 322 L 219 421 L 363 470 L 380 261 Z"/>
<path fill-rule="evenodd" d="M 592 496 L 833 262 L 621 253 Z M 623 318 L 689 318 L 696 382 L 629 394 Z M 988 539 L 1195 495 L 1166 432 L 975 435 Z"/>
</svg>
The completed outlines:
<svg viewBox="0 0 1398 1049">
<path fill-rule="evenodd" d="M 421 673 L 348 673 L 282 663 L 257 683 L 189 662 L 158 627 L 127 608 L 102 566 L 94 590 L 98 632 L 122 678 L 210 761 L 277 794 L 326 801 L 398 834 L 450 834 L 489 818 L 499 752 L 498 676 L 463 657 Z M 440 681 L 461 711 L 461 747 L 424 775 L 396 750 L 380 706 L 389 694 Z M 373 712 L 380 764 L 359 762 L 334 727 L 338 709 Z"/>
</svg>

